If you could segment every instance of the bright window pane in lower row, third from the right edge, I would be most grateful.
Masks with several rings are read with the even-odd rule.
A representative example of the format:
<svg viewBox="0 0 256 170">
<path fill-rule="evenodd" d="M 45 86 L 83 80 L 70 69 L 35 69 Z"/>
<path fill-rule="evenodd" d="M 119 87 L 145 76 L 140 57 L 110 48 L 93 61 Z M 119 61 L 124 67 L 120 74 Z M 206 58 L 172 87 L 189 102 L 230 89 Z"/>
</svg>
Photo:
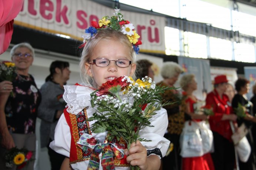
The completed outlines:
<svg viewBox="0 0 256 170">
<path fill-rule="evenodd" d="M 184 32 L 185 56 L 207 58 L 206 36 L 193 32 Z"/>
</svg>

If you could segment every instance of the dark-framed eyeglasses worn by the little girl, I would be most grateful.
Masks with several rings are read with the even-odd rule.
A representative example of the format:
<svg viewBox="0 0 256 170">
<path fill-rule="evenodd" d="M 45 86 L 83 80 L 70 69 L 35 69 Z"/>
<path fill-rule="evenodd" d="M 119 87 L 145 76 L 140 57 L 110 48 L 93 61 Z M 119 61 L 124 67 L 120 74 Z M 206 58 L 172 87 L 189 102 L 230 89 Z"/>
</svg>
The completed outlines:
<svg viewBox="0 0 256 170">
<path fill-rule="evenodd" d="M 107 58 L 97 58 L 89 62 L 90 64 L 95 64 L 99 67 L 106 67 L 110 64 L 110 61 L 114 61 L 118 67 L 128 67 L 132 64 L 132 61 L 128 59 L 117 59 L 117 60 L 109 60 Z"/>
</svg>

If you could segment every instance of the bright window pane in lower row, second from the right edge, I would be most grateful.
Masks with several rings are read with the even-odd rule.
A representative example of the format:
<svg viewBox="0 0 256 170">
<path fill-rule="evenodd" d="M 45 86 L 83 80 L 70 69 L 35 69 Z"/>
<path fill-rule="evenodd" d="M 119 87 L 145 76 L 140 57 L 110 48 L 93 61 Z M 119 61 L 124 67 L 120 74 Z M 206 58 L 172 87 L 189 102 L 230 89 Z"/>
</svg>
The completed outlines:
<svg viewBox="0 0 256 170">
<path fill-rule="evenodd" d="M 232 42 L 210 37 L 210 56 L 211 58 L 232 60 Z"/>
</svg>

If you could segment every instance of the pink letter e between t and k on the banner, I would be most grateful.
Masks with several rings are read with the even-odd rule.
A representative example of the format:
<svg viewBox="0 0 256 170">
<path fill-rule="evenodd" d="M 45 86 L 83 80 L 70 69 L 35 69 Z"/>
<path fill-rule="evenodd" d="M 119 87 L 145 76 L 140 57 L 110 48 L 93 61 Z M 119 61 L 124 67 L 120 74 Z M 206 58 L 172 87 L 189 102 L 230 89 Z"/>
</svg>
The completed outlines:
<svg viewBox="0 0 256 170">
<path fill-rule="evenodd" d="M 54 6 L 50 0 L 40 0 L 40 14 L 46 20 L 53 18 Z"/>
</svg>

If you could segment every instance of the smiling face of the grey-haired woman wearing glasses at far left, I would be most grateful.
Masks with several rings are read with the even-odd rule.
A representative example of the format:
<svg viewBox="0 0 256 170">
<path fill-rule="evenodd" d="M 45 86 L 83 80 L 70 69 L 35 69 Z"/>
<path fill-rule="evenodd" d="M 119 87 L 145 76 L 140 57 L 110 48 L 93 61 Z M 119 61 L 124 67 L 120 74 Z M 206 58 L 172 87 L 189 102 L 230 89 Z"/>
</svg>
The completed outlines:
<svg viewBox="0 0 256 170">
<path fill-rule="evenodd" d="M 32 65 L 34 58 L 30 49 L 20 47 L 14 51 L 11 60 L 15 63 L 17 70 L 26 70 Z"/>
</svg>

